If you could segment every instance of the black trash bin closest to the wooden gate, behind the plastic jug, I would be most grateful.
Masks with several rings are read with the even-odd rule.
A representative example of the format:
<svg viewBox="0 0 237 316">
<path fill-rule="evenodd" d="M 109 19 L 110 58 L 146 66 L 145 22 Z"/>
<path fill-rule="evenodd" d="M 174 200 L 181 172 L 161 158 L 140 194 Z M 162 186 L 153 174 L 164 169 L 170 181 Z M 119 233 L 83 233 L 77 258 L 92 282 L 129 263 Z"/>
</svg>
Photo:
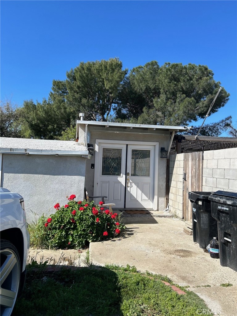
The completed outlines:
<svg viewBox="0 0 237 316">
<path fill-rule="evenodd" d="M 192 235 L 193 241 L 199 244 L 200 248 L 206 248 L 213 237 L 217 237 L 217 222 L 211 216 L 211 202 L 209 201 L 212 192 L 188 192 L 188 198 L 192 203 Z"/>
</svg>

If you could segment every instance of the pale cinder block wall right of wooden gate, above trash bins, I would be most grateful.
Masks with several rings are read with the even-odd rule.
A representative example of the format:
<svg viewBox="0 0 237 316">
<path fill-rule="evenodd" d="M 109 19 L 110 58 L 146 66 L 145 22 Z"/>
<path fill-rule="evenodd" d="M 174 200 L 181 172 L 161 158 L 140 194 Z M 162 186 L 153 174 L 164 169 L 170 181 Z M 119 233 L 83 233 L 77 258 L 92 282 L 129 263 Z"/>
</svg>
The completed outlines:
<svg viewBox="0 0 237 316">
<path fill-rule="evenodd" d="M 237 192 L 237 148 L 204 151 L 203 191 Z"/>
</svg>

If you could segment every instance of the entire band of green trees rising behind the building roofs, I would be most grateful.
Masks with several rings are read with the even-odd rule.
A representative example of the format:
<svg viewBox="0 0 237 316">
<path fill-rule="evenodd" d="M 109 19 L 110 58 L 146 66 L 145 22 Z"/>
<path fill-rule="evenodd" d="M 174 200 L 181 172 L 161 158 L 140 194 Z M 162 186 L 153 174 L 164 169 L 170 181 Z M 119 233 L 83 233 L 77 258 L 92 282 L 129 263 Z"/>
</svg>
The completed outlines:
<svg viewBox="0 0 237 316">
<path fill-rule="evenodd" d="M 1 136 L 72 138 L 80 112 L 86 120 L 188 125 L 204 118 L 214 100 L 221 83 L 213 75 L 207 66 L 195 64 L 159 66 L 150 61 L 128 72 L 119 58 L 81 62 L 66 72 L 65 80 L 53 80 L 42 103 L 26 100 L 18 109 L 1 106 Z M 222 88 L 210 114 L 228 97 Z M 201 133 L 218 136 L 229 126 L 230 117 L 204 125 Z"/>
</svg>

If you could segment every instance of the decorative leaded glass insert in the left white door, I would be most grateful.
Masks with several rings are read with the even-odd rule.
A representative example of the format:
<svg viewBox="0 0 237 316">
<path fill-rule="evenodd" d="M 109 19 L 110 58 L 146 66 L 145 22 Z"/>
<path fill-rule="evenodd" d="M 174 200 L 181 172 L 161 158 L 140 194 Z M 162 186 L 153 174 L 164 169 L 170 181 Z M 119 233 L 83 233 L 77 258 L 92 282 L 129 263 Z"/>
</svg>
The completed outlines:
<svg viewBox="0 0 237 316">
<path fill-rule="evenodd" d="M 122 149 L 103 148 L 102 176 L 121 176 Z"/>
</svg>

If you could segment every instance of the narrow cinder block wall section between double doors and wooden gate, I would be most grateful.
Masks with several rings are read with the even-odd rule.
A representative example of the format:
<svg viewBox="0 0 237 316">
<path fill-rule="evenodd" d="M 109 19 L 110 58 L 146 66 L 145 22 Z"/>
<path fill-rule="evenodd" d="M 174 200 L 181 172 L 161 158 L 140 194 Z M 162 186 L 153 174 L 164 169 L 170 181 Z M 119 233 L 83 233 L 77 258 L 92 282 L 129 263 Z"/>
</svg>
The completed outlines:
<svg viewBox="0 0 237 316">
<path fill-rule="evenodd" d="M 169 209 L 179 217 L 183 217 L 183 168 L 184 154 L 170 155 Z"/>
</svg>

